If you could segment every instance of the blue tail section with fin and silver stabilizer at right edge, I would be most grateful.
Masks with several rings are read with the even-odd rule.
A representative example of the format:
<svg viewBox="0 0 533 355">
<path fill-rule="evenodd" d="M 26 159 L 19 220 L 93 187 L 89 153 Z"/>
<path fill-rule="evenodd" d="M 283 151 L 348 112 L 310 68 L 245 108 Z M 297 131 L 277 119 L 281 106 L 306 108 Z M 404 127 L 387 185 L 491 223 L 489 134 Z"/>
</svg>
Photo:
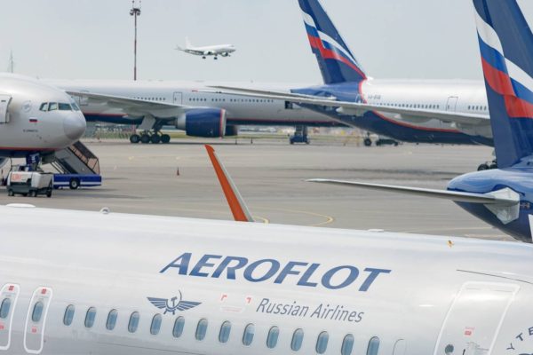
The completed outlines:
<svg viewBox="0 0 533 355">
<path fill-rule="evenodd" d="M 455 177 L 447 190 L 335 179 L 311 181 L 448 199 L 520 241 L 533 242 L 533 34 L 515 0 L 474 0 L 497 170 Z"/>
</svg>

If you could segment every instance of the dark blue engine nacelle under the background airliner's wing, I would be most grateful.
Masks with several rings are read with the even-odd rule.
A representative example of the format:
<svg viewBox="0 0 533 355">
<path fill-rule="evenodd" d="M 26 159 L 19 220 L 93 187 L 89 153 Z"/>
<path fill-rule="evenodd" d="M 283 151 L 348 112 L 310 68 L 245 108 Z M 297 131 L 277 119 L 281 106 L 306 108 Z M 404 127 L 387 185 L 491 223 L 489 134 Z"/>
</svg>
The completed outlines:
<svg viewBox="0 0 533 355">
<path fill-rule="evenodd" d="M 194 108 L 176 119 L 176 128 L 191 137 L 224 137 L 226 110 L 221 108 Z"/>
</svg>

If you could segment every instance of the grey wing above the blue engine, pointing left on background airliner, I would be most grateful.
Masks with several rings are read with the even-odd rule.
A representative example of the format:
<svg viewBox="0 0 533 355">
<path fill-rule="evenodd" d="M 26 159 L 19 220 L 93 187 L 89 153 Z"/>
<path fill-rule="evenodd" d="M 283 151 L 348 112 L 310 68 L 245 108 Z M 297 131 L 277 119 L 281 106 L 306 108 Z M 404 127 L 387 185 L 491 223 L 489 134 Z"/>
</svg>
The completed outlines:
<svg viewBox="0 0 533 355">
<path fill-rule="evenodd" d="M 106 104 L 109 107 L 122 109 L 126 114 L 131 116 L 140 116 L 151 114 L 157 118 L 175 118 L 180 114 L 187 112 L 189 106 L 171 104 L 162 101 L 149 101 L 144 99 L 132 99 L 122 96 L 99 94 L 84 91 L 67 91 L 68 95 L 76 96 L 82 99 L 88 99 L 89 102 L 96 104 Z"/>
</svg>

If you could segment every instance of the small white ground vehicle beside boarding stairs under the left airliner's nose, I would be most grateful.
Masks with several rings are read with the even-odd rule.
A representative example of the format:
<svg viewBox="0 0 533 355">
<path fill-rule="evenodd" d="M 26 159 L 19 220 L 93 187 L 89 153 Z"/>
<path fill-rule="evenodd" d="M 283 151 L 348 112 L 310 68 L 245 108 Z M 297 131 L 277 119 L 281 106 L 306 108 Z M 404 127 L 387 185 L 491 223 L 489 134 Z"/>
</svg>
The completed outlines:
<svg viewBox="0 0 533 355">
<path fill-rule="evenodd" d="M 53 174 L 44 171 L 32 171 L 28 165 L 15 166 L 7 176 L 7 194 L 14 196 L 35 197 L 45 194 L 52 197 Z"/>
</svg>

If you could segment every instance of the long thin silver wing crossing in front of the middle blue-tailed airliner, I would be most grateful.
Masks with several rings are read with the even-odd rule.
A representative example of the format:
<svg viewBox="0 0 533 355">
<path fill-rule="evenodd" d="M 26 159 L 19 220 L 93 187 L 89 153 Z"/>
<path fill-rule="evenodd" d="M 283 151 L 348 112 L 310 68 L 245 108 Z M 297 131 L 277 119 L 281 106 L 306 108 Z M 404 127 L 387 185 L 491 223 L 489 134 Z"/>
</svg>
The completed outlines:
<svg viewBox="0 0 533 355">
<path fill-rule="evenodd" d="M 402 118 L 405 121 L 419 121 L 421 119 L 435 118 L 441 120 L 442 122 L 455 122 L 464 125 L 482 125 L 490 123 L 488 114 L 465 114 L 444 110 L 381 106 L 362 102 L 338 101 L 334 97 L 324 98 L 313 95 L 303 95 L 281 91 L 261 91 L 235 88 L 231 86 L 211 86 L 211 88 L 213 90 L 207 91 L 261 99 L 280 99 L 284 101 L 290 101 L 295 104 L 337 107 L 337 112 L 340 114 L 362 115 L 367 111 L 378 111 L 387 114 L 398 114 L 398 118 Z"/>
</svg>

